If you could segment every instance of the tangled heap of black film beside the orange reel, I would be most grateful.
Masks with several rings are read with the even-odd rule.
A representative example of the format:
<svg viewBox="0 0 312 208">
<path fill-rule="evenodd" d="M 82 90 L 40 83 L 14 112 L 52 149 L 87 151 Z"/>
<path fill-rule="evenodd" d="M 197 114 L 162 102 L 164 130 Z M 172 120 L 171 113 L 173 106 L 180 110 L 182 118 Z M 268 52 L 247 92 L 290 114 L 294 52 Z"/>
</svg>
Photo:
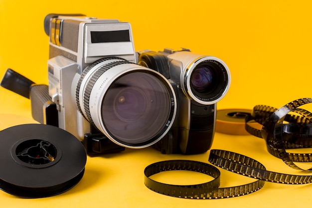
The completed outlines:
<svg viewBox="0 0 312 208">
<path fill-rule="evenodd" d="M 251 115 L 246 117 L 246 131 L 265 139 L 270 154 L 281 158 L 288 166 L 302 171 L 294 162 L 312 162 L 312 153 L 287 153 L 286 150 L 312 147 L 312 114 L 299 108 L 309 103 L 312 103 L 312 98 L 295 100 L 279 109 L 255 106 Z M 284 121 L 287 123 L 283 123 Z M 251 122 L 261 124 L 262 129 L 252 127 Z"/>
</svg>

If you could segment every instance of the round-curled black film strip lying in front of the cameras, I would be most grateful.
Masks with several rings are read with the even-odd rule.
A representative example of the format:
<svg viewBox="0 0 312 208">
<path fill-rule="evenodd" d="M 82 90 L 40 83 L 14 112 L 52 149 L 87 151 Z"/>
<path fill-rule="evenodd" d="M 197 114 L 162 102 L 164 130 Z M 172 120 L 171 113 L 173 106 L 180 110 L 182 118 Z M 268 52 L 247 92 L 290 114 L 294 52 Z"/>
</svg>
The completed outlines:
<svg viewBox="0 0 312 208">
<path fill-rule="evenodd" d="M 180 186 L 156 182 L 150 178 L 150 176 L 162 171 L 172 170 L 195 171 L 212 176 L 214 180 L 203 184 Z M 264 186 L 264 181 L 257 180 L 242 186 L 219 188 L 220 171 L 217 168 L 206 163 L 188 160 L 170 160 L 157 162 L 146 167 L 144 174 L 144 183 L 152 191 L 170 197 L 184 199 L 205 200 L 232 198 L 254 193 Z"/>
</svg>

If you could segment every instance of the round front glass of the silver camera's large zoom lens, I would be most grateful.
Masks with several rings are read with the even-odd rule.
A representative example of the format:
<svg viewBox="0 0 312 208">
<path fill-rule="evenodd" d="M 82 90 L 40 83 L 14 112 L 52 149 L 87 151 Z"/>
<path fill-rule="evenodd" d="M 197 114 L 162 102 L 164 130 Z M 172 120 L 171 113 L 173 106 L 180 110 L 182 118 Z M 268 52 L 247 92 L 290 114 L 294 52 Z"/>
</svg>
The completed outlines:
<svg viewBox="0 0 312 208">
<path fill-rule="evenodd" d="M 138 70 L 122 75 L 109 87 L 102 102 L 102 120 L 117 142 L 142 146 L 159 136 L 170 110 L 168 89 L 161 79 Z"/>
</svg>

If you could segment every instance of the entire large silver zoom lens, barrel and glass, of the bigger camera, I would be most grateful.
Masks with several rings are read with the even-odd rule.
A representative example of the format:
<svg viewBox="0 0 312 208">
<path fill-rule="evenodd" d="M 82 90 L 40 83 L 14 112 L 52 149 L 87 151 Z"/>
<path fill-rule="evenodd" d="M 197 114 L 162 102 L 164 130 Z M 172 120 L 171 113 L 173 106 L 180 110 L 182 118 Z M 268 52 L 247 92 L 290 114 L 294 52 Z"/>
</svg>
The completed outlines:
<svg viewBox="0 0 312 208">
<path fill-rule="evenodd" d="M 169 82 L 152 69 L 120 58 L 90 65 L 76 94 L 85 118 L 124 147 L 155 144 L 169 131 L 176 114 Z"/>
</svg>

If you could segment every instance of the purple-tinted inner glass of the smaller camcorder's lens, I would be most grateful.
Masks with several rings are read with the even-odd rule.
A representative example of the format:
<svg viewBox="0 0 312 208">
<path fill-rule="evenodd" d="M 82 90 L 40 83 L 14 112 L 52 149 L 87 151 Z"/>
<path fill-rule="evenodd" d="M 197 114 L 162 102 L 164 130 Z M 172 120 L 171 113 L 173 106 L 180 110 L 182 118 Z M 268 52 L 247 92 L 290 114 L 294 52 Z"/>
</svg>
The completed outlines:
<svg viewBox="0 0 312 208">
<path fill-rule="evenodd" d="M 209 90 L 212 84 L 213 74 L 209 67 L 201 66 L 195 68 L 191 75 L 191 85 L 194 90 L 198 92 L 205 92 Z"/>
</svg>

